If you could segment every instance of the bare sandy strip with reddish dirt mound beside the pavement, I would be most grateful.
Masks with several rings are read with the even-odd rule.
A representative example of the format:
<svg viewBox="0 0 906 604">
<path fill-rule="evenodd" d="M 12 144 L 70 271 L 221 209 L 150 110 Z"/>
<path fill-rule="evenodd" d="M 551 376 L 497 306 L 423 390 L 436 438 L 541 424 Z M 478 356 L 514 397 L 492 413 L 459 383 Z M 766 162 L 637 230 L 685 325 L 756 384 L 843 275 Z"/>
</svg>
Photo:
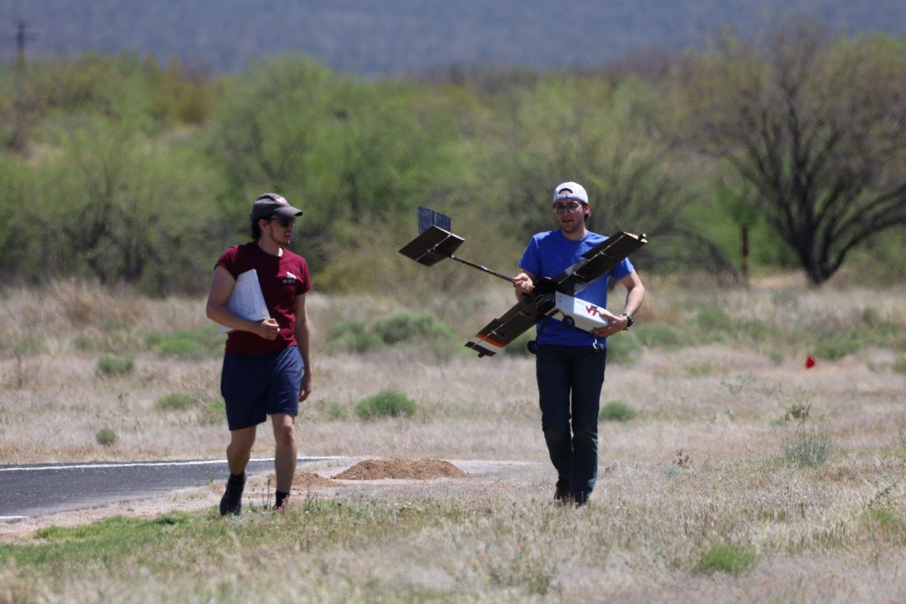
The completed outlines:
<svg viewBox="0 0 906 604">
<path fill-rule="evenodd" d="M 409 474 L 413 478 L 383 478 L 385 475 Z M 352 492 L 369 496 L 399 496 L 400 492 L 418 492 L 432 497 L 455 496 L 458 492 L 507 489 L 551 481 L 553 469 L 547 463 L 492 462 L 481 460 L 378 460 L 371 457 L 349 457 L 329 462 L 308 464 L 296 472 L 293 482 L 294 503 L 316 495 L 327 499 L 342 498 Z M 357 475 L 360 479 L 337 478 L 338 474 Z M 462 474 L 464 476 L 450 477 Z M 243 502 L 263 505 L 273 503 L 274 475 L 249 479 Z M 553 491 L 552 491 L 553 492 Z M 197 489 L 183 489 L 166 497 L 111 503 L 86 510 L 64 511 L 38 518 L 0 523 L 0 542 L 30 538 L 34 531 L 49 526 L 71 527 L 111 516 L 154 518 L 168 511 L 199 511 L 220 502 L 223 484 L 216 482 Z"/>
</svg>

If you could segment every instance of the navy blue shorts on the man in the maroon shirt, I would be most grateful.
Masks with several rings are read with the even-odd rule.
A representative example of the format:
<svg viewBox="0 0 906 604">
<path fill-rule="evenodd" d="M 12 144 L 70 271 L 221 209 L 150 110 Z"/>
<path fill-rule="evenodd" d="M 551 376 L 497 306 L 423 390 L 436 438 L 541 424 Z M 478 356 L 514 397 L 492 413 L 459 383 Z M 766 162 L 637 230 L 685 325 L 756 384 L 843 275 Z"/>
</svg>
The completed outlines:
<svg viewBox="0 0 906 604">
<path fill-rule="evenodd" d="M 225 353 L 220 394 L 229 429 L 261 424 L 270 414 L 298 414 L 304 368 L 296 346 L 267 356 Z"/>
</svg>

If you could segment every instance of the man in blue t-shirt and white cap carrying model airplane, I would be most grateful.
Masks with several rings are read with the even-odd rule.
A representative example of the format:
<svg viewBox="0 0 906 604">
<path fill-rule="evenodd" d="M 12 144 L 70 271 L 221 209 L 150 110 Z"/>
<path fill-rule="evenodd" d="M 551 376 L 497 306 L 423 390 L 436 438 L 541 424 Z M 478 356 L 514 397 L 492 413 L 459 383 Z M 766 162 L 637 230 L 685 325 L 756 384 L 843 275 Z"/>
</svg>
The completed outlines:
<svg viewBox="0 0 906 604">
<path fill-rule="evenodd" d="M 531 292 L 538 279 L 554 277 L 607 239 L 585 227 L 592 208 L 582 185 L 564 182 L 558 186 L 553 209 L 560 228 L 536 234 L 525 248 L 519 260 L 523 272 L 513 280 L 517 298 Z M 604 310 L 608 278 L 617 279 L 626 287 L 626 301 L 619 317 Z M 557 502 L 583 505 L 594 489 L 598 475 L 598 413 L 607 358 L 604 338 L 629 329 L 644 296 L 639 276 L 629 258 L 624 258 L 579 292 L 583 300 L 602 309 L 607 326 L 587 332 L 552 318 L 543 328 L 541 323 L 535 327 L 539 331 L 535 375 L 541 428 L 557 471 Z M 593 346 L 599 338 L 604 340 L 602 350 Z"/>
</svg>

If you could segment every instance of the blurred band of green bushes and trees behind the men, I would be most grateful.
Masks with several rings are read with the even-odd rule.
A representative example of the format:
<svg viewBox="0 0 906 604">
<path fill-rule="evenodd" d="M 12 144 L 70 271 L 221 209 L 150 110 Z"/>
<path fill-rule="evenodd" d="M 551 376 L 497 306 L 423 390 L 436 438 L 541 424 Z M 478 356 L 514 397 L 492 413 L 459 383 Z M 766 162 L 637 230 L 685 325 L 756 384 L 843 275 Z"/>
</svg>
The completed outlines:
<svg viewBox="0 0 906 604">
<path fill-rule="evenodd" d="M 305 211 L 293 248 L 320 291 L 484 287 L 396 253 L 418 206 L 515 273 L 563 180 L 593 230 L 648 234 L 646 272 L 739 281 L 746 229 L 754 276 L 906 278 L 906 40 L 787 21 L 642 58 L 376 80 L 303 54 L 217 77 L 129 53 L 5 64 L 0 283 L 207 291 L 271 190 Z"/>
</svg>

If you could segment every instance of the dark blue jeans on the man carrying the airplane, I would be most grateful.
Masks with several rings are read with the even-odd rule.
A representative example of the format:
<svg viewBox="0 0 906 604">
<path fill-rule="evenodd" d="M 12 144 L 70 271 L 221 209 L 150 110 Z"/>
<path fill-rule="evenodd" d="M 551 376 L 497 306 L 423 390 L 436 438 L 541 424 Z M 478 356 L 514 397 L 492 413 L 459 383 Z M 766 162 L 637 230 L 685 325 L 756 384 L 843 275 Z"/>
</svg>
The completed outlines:
<svg viewBox="0 0 906 604">
<path fill-rule="evenodd" d="M 535 375 L 541 429 L 558 483 L 584 502 L 598 477 L 598 411 L 607 350 L 592 346 L 538 346 Z M 571 424 L 572 420 L 572 424 Z"/>
</svg>

